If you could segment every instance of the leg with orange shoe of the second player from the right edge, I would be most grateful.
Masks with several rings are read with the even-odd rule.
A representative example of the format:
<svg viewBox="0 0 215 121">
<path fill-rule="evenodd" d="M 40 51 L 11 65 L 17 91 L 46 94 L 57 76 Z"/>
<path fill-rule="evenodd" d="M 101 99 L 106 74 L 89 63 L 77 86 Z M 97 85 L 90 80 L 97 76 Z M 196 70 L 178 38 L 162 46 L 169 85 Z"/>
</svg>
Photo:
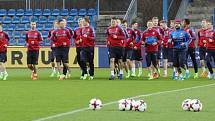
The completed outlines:
<svg viewBox="0 0 215 121">
<path fill-rule="evenodd" d="M 202 68 L 202 73 L 201 73 L 201 77 L 207 77 L 208 76 L 208 72 L 206 70 L 206 48 L 199 48 L 199 56 L 200 56 L 200 64 L 201 64 L 201 68 Z"/>
</svg>

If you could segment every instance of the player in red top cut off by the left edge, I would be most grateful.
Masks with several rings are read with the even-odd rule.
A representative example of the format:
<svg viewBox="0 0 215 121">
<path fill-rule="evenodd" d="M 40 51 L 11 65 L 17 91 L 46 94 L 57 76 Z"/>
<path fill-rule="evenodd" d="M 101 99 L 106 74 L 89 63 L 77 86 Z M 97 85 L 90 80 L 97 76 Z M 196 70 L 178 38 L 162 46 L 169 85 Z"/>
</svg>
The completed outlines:
<svg viewBox="0 0 215 121">
<path fill-rule="evenodd" d="M 0 23 L 0 79 L 6 80 L 8 73 L 6 71 L 5 62 L 7 61 L 7 46 L 9 37 L 3 31 L 2 24 Z"/>
</svg>

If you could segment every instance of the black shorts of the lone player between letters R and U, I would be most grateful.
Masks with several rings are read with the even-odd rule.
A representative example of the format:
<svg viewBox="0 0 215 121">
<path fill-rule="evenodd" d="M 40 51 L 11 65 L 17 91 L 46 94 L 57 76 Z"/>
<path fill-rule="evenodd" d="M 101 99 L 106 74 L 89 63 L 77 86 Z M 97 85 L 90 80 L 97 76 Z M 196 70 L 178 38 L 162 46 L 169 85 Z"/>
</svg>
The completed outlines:
<svg viewBox="0 0 215 121">
<path fill-rule="evenodd" d="M 38 64 L 39 50 L 27 51 L 27 64 Z"/>
</svg>

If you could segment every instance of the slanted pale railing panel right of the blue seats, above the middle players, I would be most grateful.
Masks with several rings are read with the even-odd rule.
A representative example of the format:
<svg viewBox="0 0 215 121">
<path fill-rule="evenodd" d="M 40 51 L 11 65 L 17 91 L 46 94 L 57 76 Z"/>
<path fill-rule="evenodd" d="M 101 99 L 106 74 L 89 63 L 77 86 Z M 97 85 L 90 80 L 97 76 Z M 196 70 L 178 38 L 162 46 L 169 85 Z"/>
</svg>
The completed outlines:
<svg viewBox="0 0 215 121">
<path fill-rule="evenodd" d="M 131 24 L 132 19 L 136 17 L 137 17 L 137 0 L 132 0 L 124 16 L 124 20 L 127 20 L 128 24 Z"/>
</svg>

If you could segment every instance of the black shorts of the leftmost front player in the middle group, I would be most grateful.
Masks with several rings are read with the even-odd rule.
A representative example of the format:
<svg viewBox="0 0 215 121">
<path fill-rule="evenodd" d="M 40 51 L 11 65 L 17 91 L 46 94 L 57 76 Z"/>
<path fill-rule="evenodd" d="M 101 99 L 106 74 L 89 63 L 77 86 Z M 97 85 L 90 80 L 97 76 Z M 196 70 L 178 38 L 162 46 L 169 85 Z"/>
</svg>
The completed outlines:
<svg viewBox="0 0 215 121">
<path fill-rule="evenodd" d="M 110 47 L 110 59 L 122 59 L 123 54 L 124 52 L 122 47 Z"/>
</svg>

